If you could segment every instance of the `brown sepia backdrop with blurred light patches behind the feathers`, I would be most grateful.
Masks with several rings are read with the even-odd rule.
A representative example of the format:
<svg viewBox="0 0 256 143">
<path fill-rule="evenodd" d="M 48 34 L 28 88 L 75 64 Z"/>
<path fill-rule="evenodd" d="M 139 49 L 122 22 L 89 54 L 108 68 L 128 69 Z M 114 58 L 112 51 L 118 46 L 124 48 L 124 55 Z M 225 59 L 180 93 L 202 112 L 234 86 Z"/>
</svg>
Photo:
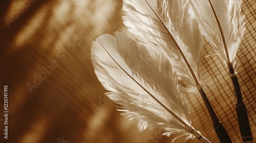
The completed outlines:
<svg viewBox="0 0 256 143">
<path fill-rule="evenodd" d="M 172 142 L 159 131 L 139 132 L 104 96 L 90 58 L 98 36 L 126 32 L 119 0 L 3 1 L 0 5 L 1 90 L 8 85 L 8 139 L 1 95 L 0 142 Z M 244 1 L 247 31 L 238 51 L 238 78 L 256 141 L 256 2 Z M 212 54 L 205 48 L 203 56 Z M 203 59 L 205 92 L 233 142 L 241 142 L 227 68 Z M 3 91 L 2 91 L 3 92 Z M 200 94 L 188 96 L 193 126 L 219 142 Z M 173 136 L 175 137 L 175 135 Z M 176 142 L 182 142 L 177 140 Z M 199 142 L 189 140 L 188 142 Z"/>
</svg>

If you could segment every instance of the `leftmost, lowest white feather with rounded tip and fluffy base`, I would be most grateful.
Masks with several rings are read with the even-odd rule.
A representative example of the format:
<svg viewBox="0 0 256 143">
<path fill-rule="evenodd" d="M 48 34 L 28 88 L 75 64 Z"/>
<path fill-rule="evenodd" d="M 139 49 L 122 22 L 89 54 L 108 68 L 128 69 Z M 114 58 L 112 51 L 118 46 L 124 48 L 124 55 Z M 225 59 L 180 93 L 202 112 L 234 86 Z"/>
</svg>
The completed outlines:
<svg viewBox="0 0 256 143">
<path fill-rule="evenodd" d="M 178 92 L 172 66 L 161 53 L 116 32 L 115 37 L 98 37 L 91 55 L 99 81 L 110 91 L 106 95 L 140 131 L 159 127 L 163 135 L 179 133 L 186 140 L 209 142 L 191 125 L 185 95 Z"/>
</svg>

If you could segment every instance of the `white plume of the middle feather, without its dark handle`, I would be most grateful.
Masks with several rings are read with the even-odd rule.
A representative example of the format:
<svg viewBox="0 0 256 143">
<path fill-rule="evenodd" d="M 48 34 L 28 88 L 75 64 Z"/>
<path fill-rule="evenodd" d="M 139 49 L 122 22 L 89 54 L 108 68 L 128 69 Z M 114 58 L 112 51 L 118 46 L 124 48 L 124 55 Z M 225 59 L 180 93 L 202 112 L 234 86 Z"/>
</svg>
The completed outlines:
<svg viewBox="0 0 256 143">
<path fill-rule="evenodd" d="M 177 82 L 185 91 L 197 92 L 202 87 L 199 65 L 203 38 L 186 0 L 124 0 L 123 11 L 123 23 L 129 31 L 147 47 L 165 53 Z"/>
</svg>

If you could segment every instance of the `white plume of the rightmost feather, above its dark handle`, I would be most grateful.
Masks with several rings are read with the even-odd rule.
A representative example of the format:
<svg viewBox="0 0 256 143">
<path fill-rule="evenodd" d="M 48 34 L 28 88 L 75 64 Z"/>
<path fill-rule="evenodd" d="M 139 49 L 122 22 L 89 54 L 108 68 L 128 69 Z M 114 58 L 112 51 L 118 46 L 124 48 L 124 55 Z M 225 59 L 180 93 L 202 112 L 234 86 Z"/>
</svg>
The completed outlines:
<svg viewBox="0 0 256 143">
<path fill-rule="evenodd" d="M 245 32 L 242 0 L 188 0 L 200 21 L 201 32 L 210 48 L 226 64 L 233 65 Z"/>
</svg>

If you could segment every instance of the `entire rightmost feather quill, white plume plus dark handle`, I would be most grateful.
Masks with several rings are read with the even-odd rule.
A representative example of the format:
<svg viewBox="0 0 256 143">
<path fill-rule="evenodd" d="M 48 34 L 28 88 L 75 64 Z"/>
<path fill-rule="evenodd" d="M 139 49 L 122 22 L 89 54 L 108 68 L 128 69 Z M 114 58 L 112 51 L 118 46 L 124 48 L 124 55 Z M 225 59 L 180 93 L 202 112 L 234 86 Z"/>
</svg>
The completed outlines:
<svg viewBox="0 0 256 143">
<path fill-rule="evenodd" d="M 201 33 L 209 43 L 209 47 L 229 69 L 234 94 L 237 98 L 236 109 L 242 140 L 243 142 L 252 142 L 248 115 L 236 76 L 236 69 L 234 69 L 236 54 L 245 31 L 244 16 L 241 15 L 242 1 L 208 0 L 208 3 L 205 3 L 202 0 L 189 0 L 189 3 L 196 13 Z"/>
</svg>

